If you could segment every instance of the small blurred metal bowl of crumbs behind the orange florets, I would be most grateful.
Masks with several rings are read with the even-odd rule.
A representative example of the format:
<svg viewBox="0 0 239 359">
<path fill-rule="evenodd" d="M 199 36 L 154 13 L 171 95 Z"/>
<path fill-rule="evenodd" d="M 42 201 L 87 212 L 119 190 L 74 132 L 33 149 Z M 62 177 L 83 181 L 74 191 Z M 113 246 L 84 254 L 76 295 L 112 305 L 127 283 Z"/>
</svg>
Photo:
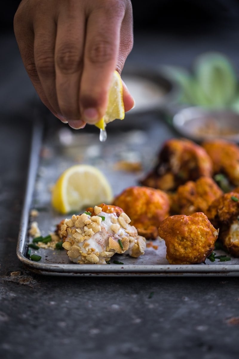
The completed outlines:
<svg viewBox="0 0 239 359">
<path fill-rule="evenodd" d="M 230 110 L 207 110 L 188 107 L 176 113 L 173 127 L 194 141 L 221 138 L 239 141 L 239 114 Z"/>
</svg>

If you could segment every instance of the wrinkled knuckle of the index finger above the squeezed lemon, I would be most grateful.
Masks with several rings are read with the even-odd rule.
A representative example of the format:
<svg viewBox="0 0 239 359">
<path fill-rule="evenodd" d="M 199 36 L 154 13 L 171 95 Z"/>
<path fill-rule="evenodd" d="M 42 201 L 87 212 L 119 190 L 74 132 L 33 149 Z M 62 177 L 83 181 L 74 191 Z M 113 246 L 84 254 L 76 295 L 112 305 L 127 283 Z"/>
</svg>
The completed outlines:
<svg viewBox="0 0 239 359">
<path fill-rule="evenodd" d="M 93 64 L 109 62 L 115 57 L 114 45 L 107 39 L 94 39 L 87 55 L 88 60 Z"/>
</svg>

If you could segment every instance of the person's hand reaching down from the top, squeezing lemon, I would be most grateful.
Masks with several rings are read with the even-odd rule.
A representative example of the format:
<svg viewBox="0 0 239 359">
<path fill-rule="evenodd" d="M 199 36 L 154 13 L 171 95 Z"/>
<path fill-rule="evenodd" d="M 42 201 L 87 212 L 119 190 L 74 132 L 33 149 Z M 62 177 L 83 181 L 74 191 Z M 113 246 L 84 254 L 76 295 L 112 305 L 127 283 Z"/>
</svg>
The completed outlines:
<svg viewBox="0 0 239 359">
<path fill-rule="evenodd" d="M 133 46 L 130 0 L 23 0 L 14 17 L 23 63 L 42 102 L 75 129 L 104 116 L 113 72 Z M 123 84 L 125 111 L 134 99 Z"/>
</svg>

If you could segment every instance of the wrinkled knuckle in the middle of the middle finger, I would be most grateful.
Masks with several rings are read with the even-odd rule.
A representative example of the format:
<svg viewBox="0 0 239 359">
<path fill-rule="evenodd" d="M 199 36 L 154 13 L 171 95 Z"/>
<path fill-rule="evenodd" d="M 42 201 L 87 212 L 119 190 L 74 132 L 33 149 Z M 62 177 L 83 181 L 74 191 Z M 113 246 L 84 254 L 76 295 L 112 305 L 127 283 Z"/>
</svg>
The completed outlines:
<svg viewBox="0 0 239 359">
<path fill-rule="evenodd" d="M 56 55 L 56 65 L 64 74 L 73 74 L 80 69 L 82 57 L 74 44 L 62 45 Z"/>
</svg>

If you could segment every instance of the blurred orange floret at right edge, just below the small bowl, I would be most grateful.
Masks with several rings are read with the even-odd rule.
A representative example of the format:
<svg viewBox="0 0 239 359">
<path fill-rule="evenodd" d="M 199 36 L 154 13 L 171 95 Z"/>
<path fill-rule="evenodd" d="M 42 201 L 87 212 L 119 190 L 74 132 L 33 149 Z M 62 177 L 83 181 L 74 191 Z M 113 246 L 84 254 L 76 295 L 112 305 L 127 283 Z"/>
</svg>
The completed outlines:
<svg viewBox="0 0 239 359">
<path fill-rule="evenodd" d="M 214 174 L 223 173 L 239 186 L 239 146 L 223 139 L 206 141 L 202 146 L 212 160 Z"/>
</svg>

